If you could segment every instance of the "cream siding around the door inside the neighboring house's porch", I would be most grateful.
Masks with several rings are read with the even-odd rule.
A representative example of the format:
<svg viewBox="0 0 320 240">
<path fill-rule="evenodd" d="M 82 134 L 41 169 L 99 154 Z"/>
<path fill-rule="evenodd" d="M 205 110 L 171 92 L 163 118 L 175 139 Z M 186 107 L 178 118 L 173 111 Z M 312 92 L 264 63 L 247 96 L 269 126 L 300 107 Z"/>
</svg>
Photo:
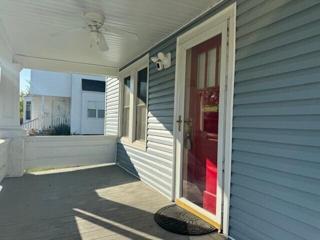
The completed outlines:
<svg viewBox="0 0 320 240">
<path fill-rule="evenodd" d="M 44 96 L 44 113 L 49 113 L 49 116 L 52 116 L 52 105 L 53 101 L 64 101 L 65 102 L 65 114 L 70 114 L 70 98 L 69 97 L 52 97 Z M 32 97 L 32 119 L 37 118 L 41 114 L 41 102 L 42 96 L 33 96 Z"/>
</svg>

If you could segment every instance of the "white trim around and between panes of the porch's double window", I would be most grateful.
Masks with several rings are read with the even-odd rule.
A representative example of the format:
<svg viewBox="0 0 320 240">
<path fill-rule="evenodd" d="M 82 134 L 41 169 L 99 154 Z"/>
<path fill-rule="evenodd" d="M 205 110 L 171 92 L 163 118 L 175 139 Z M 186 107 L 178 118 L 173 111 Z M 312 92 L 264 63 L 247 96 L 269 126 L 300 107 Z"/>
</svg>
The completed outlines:
<svg viewBox="0 0 320 240">
<path fill-rule="evenodd" d="M 146 104 L 145 104 L 145 139 L 144 142 L 135 140 L 136 128 L 136 94 L 137 94 L 137 75 L 138 71 L 147 68 L 147 83 L 146 83 Z M 147 113 L 148 113 L 148 94 L 149 94 L 149 54 L 144 55 L 139 60 L 127 66 L 120 72 L 119 79 L 119 122 L 118 136 L 122 144 L 130 145 L 135 148 L 146 151 L 147 139 Z M 129 102 L 129 131 L 128 137 L 122 137 L 122 119 L 123 119 L 123 88 L 124 78 L 130 76 L 130 102 Z"/>
</svg>

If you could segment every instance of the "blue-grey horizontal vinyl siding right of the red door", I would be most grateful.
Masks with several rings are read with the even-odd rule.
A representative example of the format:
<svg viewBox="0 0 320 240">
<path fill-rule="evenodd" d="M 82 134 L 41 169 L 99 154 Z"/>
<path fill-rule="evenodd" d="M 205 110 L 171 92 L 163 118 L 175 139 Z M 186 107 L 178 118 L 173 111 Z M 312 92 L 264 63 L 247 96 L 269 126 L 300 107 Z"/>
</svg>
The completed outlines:
<svg viewBox="0 0 320 240">
<path fill-rule="evenodd" d="M 237 5 L 229 235 L 320 236 L 320 4 Z"/>
</svg>

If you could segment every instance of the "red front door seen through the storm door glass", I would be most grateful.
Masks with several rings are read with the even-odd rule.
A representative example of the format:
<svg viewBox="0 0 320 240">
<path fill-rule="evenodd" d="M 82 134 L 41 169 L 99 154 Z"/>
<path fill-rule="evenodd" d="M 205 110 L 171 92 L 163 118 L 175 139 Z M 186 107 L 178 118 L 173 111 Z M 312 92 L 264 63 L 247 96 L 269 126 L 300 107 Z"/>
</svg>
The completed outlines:
<svg viewBox="0 0 320 240">
<path fill-rule="evenodd" d="M 182 197 L 216 214 L 221 34 L 187 51 Z"/>
</svg>

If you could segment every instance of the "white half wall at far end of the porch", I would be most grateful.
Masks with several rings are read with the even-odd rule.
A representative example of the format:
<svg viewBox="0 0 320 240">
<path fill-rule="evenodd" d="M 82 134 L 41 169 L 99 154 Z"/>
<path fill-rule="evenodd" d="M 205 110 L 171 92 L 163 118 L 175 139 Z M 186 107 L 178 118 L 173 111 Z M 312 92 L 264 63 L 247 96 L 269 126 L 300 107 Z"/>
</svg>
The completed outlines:
<svg viewBox="0 0 320 240">
<path fill-rule="evenodd" d="M 31 136 L 24 169 L 115 163 L 117 136 Z"/>
</svg>

